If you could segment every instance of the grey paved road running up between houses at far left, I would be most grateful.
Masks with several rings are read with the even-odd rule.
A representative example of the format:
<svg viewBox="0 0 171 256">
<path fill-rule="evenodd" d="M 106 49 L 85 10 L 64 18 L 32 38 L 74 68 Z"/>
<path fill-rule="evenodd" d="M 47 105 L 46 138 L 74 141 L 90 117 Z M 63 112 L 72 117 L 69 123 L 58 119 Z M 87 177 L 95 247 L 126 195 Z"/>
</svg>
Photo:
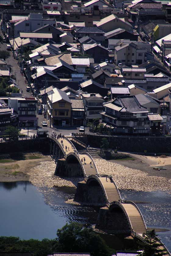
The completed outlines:
<svg viewBox="0 0 171 256">
<path fill-rule="evenodd" d="M 6 43 L 0 44 L 0 47 L 1 47 L 0 48 L 1 50 L 6 50 Z M 12 51 L 10 51 L 9 53 L 10 53 L 10 57 L 8 59 L 6 59 L 5 61 L 11 67 L 12 75 L 16 75 L 16 83 L 20 87 L 20 90 L 23 92 L 22 96 L 26 96 L 26 97 L 32 96 L 31 93 L 26 92 L 27 84 L 25 83 L 24 77 L 20 73 L 20 68 L 12 55 Z"/>
</svg>

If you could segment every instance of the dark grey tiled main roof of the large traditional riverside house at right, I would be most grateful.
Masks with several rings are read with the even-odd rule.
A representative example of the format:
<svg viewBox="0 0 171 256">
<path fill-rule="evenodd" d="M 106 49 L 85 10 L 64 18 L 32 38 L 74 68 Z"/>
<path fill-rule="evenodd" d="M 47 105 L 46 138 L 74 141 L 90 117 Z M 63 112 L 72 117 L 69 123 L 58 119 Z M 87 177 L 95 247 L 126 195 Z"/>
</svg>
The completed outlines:
<svg viewBox="0 0 171 256">
<path fill-rule="evenodd" d="M 120 105 L 124 107 L 124 109 L 122 109 L 123 112 L 147 111 L 147 108 L 141 106 L 135 96 L 121 96 L 118 97 L 117 100 L 119 101 Z"/>
</svg>

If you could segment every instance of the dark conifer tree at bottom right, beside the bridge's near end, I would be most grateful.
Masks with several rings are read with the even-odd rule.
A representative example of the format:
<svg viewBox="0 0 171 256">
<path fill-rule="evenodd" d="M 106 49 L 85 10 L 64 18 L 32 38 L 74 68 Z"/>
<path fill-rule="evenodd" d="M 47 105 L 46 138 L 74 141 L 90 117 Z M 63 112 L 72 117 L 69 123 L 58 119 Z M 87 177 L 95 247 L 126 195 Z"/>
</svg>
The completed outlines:
<svg viewBox="0 0 171 256">
<path fill-rule="evenodd" d="M 141 256 L 153 256 L 153 255 L 166 255 L 166 251 L 159 249 L 160 241 L 157 238 L 155 230 L 147 231 L 145 240 L 147 243 L 141 243 L 141 248 L 143 248 L 143 253 Z"/>
</svg>

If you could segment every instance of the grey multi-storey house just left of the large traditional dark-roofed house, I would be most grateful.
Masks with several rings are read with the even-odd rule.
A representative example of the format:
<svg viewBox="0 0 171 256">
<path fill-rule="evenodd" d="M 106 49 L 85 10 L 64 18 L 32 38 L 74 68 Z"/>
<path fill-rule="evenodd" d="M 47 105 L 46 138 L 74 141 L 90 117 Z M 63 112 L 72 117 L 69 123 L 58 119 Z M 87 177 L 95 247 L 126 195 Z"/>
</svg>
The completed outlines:
<svg viewBox="0 0 171 256">
<path fill-rule="evenodd" d="M 86 124 L 93 119 L 101 119 L 104 99 L 99 93 L 81 93 L 85 109 Z"/>
</svg>

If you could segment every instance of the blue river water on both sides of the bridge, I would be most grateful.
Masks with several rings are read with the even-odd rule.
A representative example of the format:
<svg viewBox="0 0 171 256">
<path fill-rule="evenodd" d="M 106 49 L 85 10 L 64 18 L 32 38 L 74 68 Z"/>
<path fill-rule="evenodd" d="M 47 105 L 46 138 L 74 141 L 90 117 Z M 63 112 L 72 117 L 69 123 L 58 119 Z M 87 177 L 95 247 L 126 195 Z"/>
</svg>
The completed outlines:
<svg viewBox="0 0 171 256">
<path fill-rule="evenodd" d="M 171 196 L 167 192 L 120 191 L 122 198 L 138 204 L 148 227 L 171 230 Z M 55 238 L 66 223 L 95 224 L 98 213 L 92 207 L 65 203 L 74 188 L 37 188 L 28 181 L 0 182 L 0 236 L 21 239 Z M 144 203 L 144 201 L 146 203 Z M 159 232 L 171 251 L 171 231 Z"/>
</svg>

